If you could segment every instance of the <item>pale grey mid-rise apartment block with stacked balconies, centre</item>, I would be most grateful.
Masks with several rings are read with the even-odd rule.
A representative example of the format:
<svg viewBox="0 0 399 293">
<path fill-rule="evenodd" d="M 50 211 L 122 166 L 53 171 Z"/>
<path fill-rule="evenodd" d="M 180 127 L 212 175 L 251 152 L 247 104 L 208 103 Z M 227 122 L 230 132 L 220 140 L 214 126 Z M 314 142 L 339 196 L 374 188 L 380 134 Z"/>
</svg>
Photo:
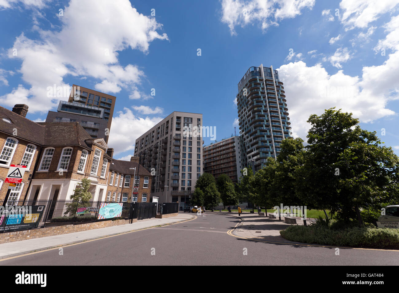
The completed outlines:
<svg viewBox="0 0 399 293">
<path fill-rule="evenodd" d="M 160 203 L 190 204 L 202 166 L 202 114 L 173 112 L 136 139 L 134 156 L 154 176 L 152 196 Z"/>
</svg>

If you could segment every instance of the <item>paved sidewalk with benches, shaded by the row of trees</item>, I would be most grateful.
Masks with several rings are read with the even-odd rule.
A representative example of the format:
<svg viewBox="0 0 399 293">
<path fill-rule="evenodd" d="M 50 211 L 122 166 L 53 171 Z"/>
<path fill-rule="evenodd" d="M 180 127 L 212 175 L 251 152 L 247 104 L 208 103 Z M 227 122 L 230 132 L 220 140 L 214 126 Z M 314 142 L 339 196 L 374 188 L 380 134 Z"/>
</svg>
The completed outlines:
<svg viewBox="0 0 399 293">
<path fill-rule="evenodd" d="M 228 212 L 213 212 L 213 214 L 229 214 Z M 238 217 L 237 212 L 231 212 L 231 216 Z M 281 220 L 277 217 L 277 219 L 269 219 L 266 216 L 259 216 L 257 213 L 251 214 L 248 212 L 241 213 L 241 222 L 237 225 L 237 227 L 232 231 L 232 233 L 236 236 L 245 237 L 245 238 L 258 238 L 260 240 L 267 241 L 277 241 L 277 242 L 286 242 L 286 243 L 296 243 L 289 240 L 286 240 L 280 236 L 280 230 L 284 230 L 291 224 L 287 224 L 284 222 L 284 217 L 281 216 Z M 303 225 L 303 221 L 299 220 L 299 217 L 296 218 L 297 225 Z M 313 219 L 307 219 L 306 223 L 310 224 Z"/>
</svg>

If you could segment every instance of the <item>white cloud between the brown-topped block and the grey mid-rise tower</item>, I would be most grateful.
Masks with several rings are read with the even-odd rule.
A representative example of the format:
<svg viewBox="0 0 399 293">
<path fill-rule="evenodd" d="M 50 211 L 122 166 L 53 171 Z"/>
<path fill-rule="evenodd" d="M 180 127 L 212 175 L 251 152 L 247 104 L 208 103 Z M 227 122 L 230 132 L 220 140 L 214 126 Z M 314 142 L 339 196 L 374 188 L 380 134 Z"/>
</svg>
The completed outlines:
<svg viewBox="0 0 399 293">
<path fill-rule="evenodd" d="M 163 118 L 136 117 L 132 110 L 123 108 L 112 118 L 108 145 L 114 148 L 115 154 L 133 151 L 136 138 L 148 131 Z"/>
</svg>

